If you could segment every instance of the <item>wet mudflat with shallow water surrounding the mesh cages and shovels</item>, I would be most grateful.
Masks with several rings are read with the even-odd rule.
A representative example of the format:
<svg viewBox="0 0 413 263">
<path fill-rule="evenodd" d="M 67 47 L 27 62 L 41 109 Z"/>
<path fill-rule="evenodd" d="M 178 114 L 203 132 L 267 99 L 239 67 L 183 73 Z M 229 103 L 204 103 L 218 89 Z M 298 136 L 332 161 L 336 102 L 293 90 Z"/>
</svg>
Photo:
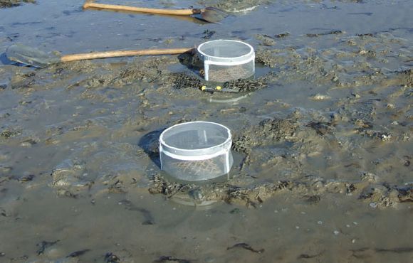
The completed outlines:
<svg viewBox="0 0 413 263">
<path fill-rule="evenodd" d="M 413 3 L 205 5 L 216 3 L 234 16 L 205 24 L 82 1 L 0 9 L 1 262 L 413 260 Z M 4 55 L 13 43 L 70 54 L 219 38 L 256 48 L 266 87 L 182 87 L 173 73 L 194 73 L 176 55 L 44 69 Z M 188 194 L 165 176 L 160 189 L 156 141 L 185 120 L 231 129 L 228 181 Z"/>
</svg>

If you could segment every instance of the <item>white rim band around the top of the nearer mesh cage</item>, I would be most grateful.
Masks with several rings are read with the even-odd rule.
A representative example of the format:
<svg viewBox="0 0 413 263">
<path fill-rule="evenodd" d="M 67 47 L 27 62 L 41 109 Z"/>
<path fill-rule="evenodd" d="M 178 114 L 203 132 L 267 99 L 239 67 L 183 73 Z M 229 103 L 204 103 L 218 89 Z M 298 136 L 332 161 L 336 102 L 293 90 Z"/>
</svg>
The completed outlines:
<svg viewBox="0 0 413 263">
<path fill-rule="evenodd" d="M 180 127 L 182 125 L 192 125 L 192 124 L 197 124 L 197 123 L 211 124 L 211 125 L 220 127 L 221 129 L 224 129 L 224 131 L 226 132 L 225 141 L 221 144 L 216 144 L 215 146 L 201 148 L 201 149 L 181 149 L 181 148 L 177 148 L 174 146 L 170 146 L 164 141 L 164 134 L 167 134 L 172 129 L 176 129 L 177 127 Z M 201 160 L 214 158 L 221 154 L 227 154 L 231 149 L 231 145 L 232 145 L 231 130 L 225 127 L 224 125 L 216 123 L 216 122 L 203 122 L 203 121 L 184 122 L 184 123 L 176 124 L 172 127 L 169 127 L 168 129 L 165 129 L 164 132 L 162 132 L 162 134 L 160 135 L 160 153 L 163 153 L 169 157 L 172 157 L 173 159 L 178 159 L 182 161 L 201 161 Z"/>
</svg>

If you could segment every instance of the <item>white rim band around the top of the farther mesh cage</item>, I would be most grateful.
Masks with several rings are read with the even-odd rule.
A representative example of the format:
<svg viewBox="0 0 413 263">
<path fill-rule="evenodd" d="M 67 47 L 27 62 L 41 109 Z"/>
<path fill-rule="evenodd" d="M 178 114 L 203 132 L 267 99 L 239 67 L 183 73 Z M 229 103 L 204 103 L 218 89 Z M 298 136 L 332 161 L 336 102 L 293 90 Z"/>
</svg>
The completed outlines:
<svg viewBox="0 0 413 263">
<path fill-rule="evenodd" d="M 248 47 L 249 52 L 244 55 L 239 55 L 236 57 L 222 57 L 222 56 L 208 55 L 204 51 L 202 51 L 202 49 L 204 48 L 204 45 L 214 45 L 214 44 L 219 45 L 219 43 L 229 43 L 229 44 L 234 43 L 234 45 L 241 44 L 241 46 Z M 234 48 L 236 47 L 234 46 Z M 209 62 L 210 64 L 216 64 L 216 65 L 240 65 L 240 64 L 248 63 L 251 60 L 251 57 L 252 58 L 255 57 L 253 47 L 249 43 L 245 43 L 242 41 L 225 40 L 225 39 L 204 42 L 198 46 L 197 51 L 200 55 L 202 55 L 202 58 L 204 59 L 204 61 L 209 60 L 211 61 Z M 224 63 L 224 64 L 221 64 L 221 63 Z"/>
</svg>

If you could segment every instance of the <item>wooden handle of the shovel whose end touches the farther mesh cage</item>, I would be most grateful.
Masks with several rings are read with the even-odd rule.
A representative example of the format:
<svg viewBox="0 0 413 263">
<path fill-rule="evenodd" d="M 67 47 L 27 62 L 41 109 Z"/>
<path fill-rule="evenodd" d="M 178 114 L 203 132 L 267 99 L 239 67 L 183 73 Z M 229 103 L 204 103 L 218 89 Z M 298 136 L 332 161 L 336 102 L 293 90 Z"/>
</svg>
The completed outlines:
<svg viewBox="0 0 413 263">
<path fill-rule="evenodd" d="M 127 57 L 131 55 L 174 55 L 187 53 L 194 48 L 166 48 L 166 49 L 142 49 L 142 50 L 114 50 L 106 52 L 80 53 L 72 55 L 63 55 L 62 62 L 91 60 L 95 58 L 117 58 Z"/>
</svg>

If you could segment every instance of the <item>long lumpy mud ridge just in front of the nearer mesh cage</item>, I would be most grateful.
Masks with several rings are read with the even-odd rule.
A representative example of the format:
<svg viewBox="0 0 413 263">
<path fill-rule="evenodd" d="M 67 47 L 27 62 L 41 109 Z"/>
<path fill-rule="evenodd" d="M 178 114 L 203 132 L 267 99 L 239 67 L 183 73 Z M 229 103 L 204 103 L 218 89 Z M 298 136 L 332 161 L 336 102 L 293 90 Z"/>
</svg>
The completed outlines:
<svg viewBox="0 0 413 263">
<path fill-rule="evenodd" d="M 293 195 L 309 205 L 315 205 L 327 194 L 357 195 L 360 201 L 372 208 L 394 207 L 398 203 L 413 202 L 413 185 L 389 186 L 387 183 L 369 181 L 339 182 L 308 176 L 303 181 L 278 181 L 258 183 L 251 186 L 236 186 L 228 183 L 214 183 L 206 186 L 169 183 L 162 176 L 152 179 L 150 193 L 162 194 L 172 200 L 187 204 L 203 205 L 209 201 L 224 201 L 256 208 L 274 195 Z"/>
</svg>

